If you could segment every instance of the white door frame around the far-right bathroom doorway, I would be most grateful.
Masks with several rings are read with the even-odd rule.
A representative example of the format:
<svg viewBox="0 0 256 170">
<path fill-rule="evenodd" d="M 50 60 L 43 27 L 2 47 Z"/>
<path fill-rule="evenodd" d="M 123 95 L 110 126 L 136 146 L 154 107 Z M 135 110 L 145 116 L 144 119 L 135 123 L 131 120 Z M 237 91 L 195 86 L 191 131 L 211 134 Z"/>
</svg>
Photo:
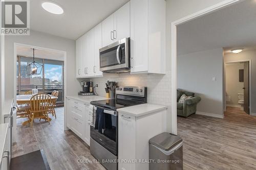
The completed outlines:
<svg viewBox="0 0 256 170">
<path fill-rule="evenodd" d="M 251 113 L 251 60 L 238 60 L 238 61 L 228 61 L 228 62 L 225 62 L 225 64 L 228 64 L 228 63 L 240 63 L 240 62 L 249 62 L 249 109 L 250 109 L 250 115 L 252 115 L 252 113 Z M 225 67 L 224 67 L 224 69 L 225 69 L 225 75 L 224 75 L 224 89 L 225 89 L 225 92 L 226 92 L 226 65 L 225 65 Z M 226 95 L 225 95 L 225 93 L 223 94 L 224 95 L 224 103 L 225 103 L 225 109 L 226 109 Z"/>
</svg>

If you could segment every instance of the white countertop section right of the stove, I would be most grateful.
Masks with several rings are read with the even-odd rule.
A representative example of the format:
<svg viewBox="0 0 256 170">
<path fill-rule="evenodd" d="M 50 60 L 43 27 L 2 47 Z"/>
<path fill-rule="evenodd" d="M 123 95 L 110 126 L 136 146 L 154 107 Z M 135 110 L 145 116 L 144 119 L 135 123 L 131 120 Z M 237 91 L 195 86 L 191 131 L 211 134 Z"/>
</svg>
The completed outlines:
<svg viewBox="0 0 256 170">
<path fill-rule="evenodd" d="M 117 109 L 117 111 L 119 113 L 124 113 L 124 114 L 129 114 L 131 116 L 139 117 L 146 114 L 161 111 L 164 109 L 167 109 L 167 106 L 145 103 L 141 105 L 120 108 L 120 109 Z"/>
</svg>

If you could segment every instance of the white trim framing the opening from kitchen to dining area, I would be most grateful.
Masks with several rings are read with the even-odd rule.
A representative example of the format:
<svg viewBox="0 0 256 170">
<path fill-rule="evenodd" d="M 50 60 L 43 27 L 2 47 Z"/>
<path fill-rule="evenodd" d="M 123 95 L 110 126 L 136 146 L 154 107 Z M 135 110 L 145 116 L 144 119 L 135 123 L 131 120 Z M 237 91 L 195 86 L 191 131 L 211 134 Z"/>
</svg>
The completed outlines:
<svg viewBox="0 0 256 170">
<path fill-rule="evenodd" d="M 17 43 L 17 42 L 14 42 L 13 43 L 13 64 L 15 65 L 14 67 L 14 72 L 13 72 L 13 75 L 14 75 L 14 80 L 13 80 L 13 101 L 14 101 L 14 104 L 16 104 L 16 95 L 17 95 L 17 92 L 16 92 L 16 84 L 17 84 L 17 80 L 16 80 L 16 72 L 17 72 L 17 68 L 16 68 L 16 64 L 17 64 L 17 46 L 26 46 L 26 47 L 29 47 L 29 48 L 36 48 L 36 49 L 39 49 L 39 50 L 48 50 L 48 51 L 54 51 L 54 52 L 58 52 L 58 53 L 63 53 L 63 60 L 64 61 L 64 127 L 63 129 L 64 130 L 68 130 L 67 128 L 67 113 L 66 113 L 66 103 L 67 101 L 65 100 L 66 99 L 66 95 L 67 95 L 67 52 L 66 51 L 60 51 L 60 50 L 55 50 L 55 49 L 51 49 L 51 48 L 46 48 L 46 47 L 41 47 L 41 46 L 35 46 L 35 45 L 29 45 L 29 44 L 23 44 L 23 43 Z"/>
</svg>

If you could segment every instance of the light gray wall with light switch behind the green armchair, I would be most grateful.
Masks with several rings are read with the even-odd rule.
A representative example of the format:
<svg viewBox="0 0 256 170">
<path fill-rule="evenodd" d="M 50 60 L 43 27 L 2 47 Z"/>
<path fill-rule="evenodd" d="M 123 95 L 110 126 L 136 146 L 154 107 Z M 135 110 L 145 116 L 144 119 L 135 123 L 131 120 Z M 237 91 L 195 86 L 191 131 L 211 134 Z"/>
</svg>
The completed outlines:
<svg viewBox="0 0 256 170">
<path fill-rule="evenodd" d="M 218 48 L 177 57 L 177 87 L 201 97 L 199 112 L 223 115 L 222 53 Z"/>
</svg>

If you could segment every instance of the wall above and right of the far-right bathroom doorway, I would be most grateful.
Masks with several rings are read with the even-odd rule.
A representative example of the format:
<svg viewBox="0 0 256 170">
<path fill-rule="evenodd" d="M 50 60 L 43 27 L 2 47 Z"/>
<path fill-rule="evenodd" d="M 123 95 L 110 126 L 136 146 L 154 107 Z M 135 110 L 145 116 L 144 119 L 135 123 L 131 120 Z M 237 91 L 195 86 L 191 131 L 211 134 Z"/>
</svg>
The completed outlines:
<svg viewBox="0 0 256 170">
<path fill-rule="evenodd" d="M 251 60 L 251 112 L 256 113 L 256 50 L 242 51 L 239 54 L 224 55 L 225 62 Z"/>
</svg>

